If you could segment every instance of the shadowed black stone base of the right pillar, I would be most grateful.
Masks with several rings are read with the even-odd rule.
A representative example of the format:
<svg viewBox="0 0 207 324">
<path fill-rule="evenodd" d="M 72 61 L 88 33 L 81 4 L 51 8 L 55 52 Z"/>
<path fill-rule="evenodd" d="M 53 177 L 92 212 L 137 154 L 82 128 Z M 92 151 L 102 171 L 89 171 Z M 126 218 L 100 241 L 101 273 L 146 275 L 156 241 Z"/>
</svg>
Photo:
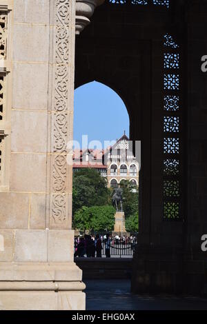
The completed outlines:
<svg viewBox="0 0 207 324">
<path fill-rule="evenodd" d="M 170 247 L 137 247 L 132 265 L 132 292 L 204 294 L 204 260 L 190 260 L 186 255 Z"/>
</svg>

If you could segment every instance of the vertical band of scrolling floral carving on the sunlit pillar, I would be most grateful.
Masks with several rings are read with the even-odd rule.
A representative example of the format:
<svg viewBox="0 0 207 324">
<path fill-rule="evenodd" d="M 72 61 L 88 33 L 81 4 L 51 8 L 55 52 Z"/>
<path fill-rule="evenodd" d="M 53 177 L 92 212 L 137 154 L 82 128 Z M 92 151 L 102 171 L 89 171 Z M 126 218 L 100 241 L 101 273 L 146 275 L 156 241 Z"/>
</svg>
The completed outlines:
<svg viewBox="0 0 207 324">
<path fill-rule="evenodd" d="M 52 219 L 63 223 L 66 215 L 68 141 L 68 82 L 70 54 L 70 0 L 56 0 L 55 27 L 55 112 L 53 127 Z"/>
</svg>

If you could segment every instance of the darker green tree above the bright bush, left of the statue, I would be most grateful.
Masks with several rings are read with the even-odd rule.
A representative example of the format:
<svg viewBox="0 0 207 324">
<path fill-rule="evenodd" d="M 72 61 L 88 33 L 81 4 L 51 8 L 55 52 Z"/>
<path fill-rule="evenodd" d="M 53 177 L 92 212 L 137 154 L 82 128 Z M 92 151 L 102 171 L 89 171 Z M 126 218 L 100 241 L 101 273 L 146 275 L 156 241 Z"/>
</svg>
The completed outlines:
<svg viewBox="0 0 207 324">
<path fill-rule="evenodd" d="M 82 169 L 73 174 L 73 214 L 81 207 L 107 205 L 110 192 L 105 179 L 95 169 Z"/>
</svg>

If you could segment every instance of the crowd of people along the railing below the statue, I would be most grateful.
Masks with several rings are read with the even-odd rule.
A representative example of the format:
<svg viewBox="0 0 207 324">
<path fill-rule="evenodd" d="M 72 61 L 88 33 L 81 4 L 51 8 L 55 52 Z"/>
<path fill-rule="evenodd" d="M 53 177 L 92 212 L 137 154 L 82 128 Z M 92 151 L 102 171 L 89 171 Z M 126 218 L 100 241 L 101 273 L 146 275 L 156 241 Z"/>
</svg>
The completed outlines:
<svg viewBox="0 0 207 324">
<path fill-rule="evenodd" d="M 111 247 L 115 249 L 130 247 L 133 249 L 137 244 L 137 237 L 134 235 L 128 236 L 110 236 L 110 234 L 104 235 L 87 235 L 75 237 L 75 254 L 77 257 L 88 258 L 101 258 L 102 250 L 104 247 L 106 258 L 110 258 Z"/>
</svg>

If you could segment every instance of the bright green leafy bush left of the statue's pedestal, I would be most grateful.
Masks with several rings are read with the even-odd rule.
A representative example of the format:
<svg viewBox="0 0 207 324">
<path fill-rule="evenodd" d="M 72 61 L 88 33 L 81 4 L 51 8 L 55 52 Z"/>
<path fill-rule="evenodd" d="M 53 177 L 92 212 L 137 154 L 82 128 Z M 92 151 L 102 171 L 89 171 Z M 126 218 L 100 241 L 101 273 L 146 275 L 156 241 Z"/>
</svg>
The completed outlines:
<svg viewBox="0 0 207 324">
<path fill-rule="evenodd" d="M 73 226 L 78 230 L 94 232 L 112 231 L 115 225 L 115 208 L 110 205 L 82 207 L 75 213 Z"/>
</svg>

